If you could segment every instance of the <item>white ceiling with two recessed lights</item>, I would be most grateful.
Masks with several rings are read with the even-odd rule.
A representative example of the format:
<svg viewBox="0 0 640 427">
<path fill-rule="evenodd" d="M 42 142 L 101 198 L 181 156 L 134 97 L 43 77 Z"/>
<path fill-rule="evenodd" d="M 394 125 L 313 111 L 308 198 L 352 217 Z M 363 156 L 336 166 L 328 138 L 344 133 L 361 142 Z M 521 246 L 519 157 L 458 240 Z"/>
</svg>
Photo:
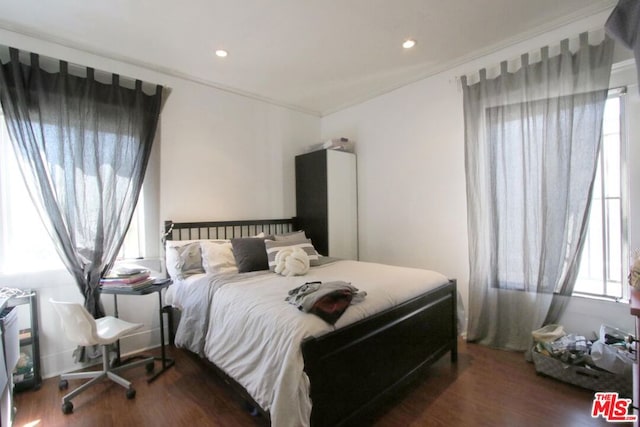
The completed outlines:
<svg viewBox="0 0 640 427">
<path fill-rule="evenodd" d="M 0 28 L 325 115 L 614 4 L 2 0 Z"/>
</svg>

